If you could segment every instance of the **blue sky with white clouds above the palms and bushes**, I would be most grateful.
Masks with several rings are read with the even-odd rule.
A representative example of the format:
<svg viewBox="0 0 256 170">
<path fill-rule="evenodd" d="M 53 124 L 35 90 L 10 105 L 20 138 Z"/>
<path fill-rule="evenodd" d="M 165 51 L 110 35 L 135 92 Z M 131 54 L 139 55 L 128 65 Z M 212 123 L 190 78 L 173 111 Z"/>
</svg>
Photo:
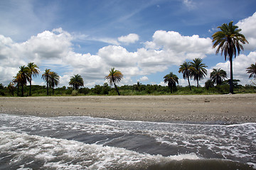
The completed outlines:
<svg viewBox="0 0 256 170">
<path fill-rule="evenodd" d="M 60 75 L 59 86 L 80 74 L 86 87 L 102 85 L 114 67 L 124 74 L 118 84 L 164 84 L 170 72 L 178 83 L 183 62 L 203 59 L 230 75 L 224 56 L 215 55 L 212 35 L 223 23 L 241 28 L 249 44 L 233 62 L 234 79 L 251 84 L 246 68 L 256 62 L 255 0 L 1 0 L 0 83 L 8 85 L 19 67 L 34 62 Z M 196 86 L 196 81 L 191 81 Z"/>
</svg>

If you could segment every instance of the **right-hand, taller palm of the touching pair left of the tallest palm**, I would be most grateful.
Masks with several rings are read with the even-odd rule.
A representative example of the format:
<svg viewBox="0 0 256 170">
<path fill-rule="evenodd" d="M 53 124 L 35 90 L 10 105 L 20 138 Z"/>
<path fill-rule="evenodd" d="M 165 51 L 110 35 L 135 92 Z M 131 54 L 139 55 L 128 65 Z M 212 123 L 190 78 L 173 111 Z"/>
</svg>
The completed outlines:
<svg viewBox="0 0 256 170">
<path fill-rule="evenodd" d="M 199 80 L 203 79 L 203 77 L 206 77 L 207 70 L 206 70 L 206 64 L 202 63 L 203 60 L 201 58 L 196 58 L 193 60 L 193 62 L 189 62 L 191 64 L 191 75 L 194 77 L 194 80 L 197 81 L 197 87 L 199 87 Z"/>
</svg>

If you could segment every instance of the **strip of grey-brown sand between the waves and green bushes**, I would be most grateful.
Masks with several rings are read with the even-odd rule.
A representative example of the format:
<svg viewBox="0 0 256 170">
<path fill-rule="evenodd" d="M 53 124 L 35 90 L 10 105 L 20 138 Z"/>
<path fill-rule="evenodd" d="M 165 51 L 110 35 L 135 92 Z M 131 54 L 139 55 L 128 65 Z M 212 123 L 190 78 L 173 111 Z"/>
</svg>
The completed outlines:
<svg viewBox="0 0 256 170">
<path fill-rule="evenodd" d="M 256 94 L 1 97 L 0 113 L 168 123 L 256 123 Z"/>
</svg>

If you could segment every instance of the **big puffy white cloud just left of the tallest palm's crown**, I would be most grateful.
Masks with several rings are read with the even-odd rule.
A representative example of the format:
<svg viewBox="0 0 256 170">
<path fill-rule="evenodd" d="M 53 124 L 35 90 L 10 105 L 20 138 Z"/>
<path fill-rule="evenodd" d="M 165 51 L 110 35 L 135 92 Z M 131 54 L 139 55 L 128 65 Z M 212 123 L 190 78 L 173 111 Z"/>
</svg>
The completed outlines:
<svg viewBox="0 0 256 170">
<path fill-rule="evenodd" d="M 157 30 L 152 38 L 144 43 L 144 48 L 137 50 L 141 58 L 138 65 L 144 74 L 163 72 L 171 65 L 214 53 L 210 38 L 198 35 L 183 36 L 174 31 Z"/>
</svg>

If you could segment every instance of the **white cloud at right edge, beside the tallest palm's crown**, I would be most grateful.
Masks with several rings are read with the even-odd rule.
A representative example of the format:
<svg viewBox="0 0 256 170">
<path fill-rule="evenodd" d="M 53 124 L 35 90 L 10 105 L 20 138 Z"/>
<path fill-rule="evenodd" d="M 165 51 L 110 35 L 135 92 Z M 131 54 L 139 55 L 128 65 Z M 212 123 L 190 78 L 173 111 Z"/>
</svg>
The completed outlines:
<svg viewBox="0 0 256 170">
<path fill-rule="evenodd" d="M 241 28 L 241 33 L 245 35 L 245 38 L 249 44 L 243 45 L 245 50 L 256 50 L 256 12 L 241 21 L 239 21 L 236 26 Z"/>
</svg>

